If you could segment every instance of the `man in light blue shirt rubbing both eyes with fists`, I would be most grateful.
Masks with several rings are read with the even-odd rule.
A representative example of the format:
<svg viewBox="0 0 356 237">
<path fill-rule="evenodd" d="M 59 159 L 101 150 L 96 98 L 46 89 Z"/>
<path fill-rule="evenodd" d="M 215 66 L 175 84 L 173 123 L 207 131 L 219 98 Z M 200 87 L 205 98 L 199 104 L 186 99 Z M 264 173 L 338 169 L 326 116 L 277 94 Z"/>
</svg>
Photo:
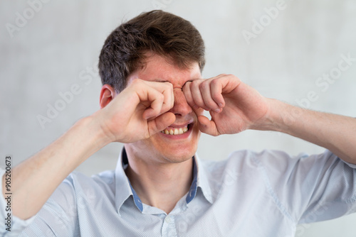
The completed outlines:
<svg viewBox="0 0 356 237">
<path fill-rule="evenodd" d="M 102 109 L 14 168 L 13 225 L 1 233 L 294 236 L 297 224 L 355 211 L 355 118 L 267 99 L 234 75 L 202 79 L 204 62 L 199 32 L 170 13 L 142 13 L 115 29 L 100 53 Z M 298 158 L 245 150 L 222 162 L 195 155 L 200 132 L 246 129 L 328 150 Z M 115 171 L 73 172 L 115 141 L 125 143 Z"/>
</svg>

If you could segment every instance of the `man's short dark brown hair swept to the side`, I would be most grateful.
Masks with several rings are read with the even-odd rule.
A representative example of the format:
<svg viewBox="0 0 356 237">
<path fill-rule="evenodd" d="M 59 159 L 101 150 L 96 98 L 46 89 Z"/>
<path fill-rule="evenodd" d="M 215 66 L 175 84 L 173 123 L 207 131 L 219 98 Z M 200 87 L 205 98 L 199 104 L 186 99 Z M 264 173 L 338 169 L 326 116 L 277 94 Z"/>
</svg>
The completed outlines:
<svg viewBox="0 0 356 237">
<path fill-rule="evenodd" d="M 182 69 L 198 62 L 202 71 L 204 50 L 199 31 L 189 21 L 160 10 L 141 13 L 105 40 L 99 57 L 101 81 L 121 92 L 127 76 L 144 65 L 147 51 L 167 57 Z"/>
</svg>

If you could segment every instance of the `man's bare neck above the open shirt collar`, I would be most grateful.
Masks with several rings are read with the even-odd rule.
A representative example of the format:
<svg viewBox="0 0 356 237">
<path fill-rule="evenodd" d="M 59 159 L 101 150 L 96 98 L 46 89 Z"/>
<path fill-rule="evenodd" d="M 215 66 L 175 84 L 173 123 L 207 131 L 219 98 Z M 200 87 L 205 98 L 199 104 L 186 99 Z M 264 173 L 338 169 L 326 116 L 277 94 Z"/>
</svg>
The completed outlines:
<svg viewBox="0 0 356 237">
<path fill-rule="evenodd" d="M 125 172 L 141 201 L 169 214 L 189 191 L 193 180 L 193 159 L 152 164 L 129 154 L 127 157 L 130 159 Z"/>
</svg>

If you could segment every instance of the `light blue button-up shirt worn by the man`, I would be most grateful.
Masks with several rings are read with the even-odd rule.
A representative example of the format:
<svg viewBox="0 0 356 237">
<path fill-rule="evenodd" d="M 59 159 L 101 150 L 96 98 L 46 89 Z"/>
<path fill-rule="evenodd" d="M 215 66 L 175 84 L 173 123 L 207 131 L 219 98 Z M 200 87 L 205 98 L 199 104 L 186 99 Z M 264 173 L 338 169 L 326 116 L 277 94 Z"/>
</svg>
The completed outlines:
<svg viewBox="0 0 356 237">
<path fill-rule="evenodd" d="M 243 150 L 223 161 L 196 155 L 192 186 L 169 214 L 141 202 L 126 166 L 124 150 L 113 171 L 73 172 L 36 216 L 14 217 L 11 232 L 0 228 L 1 235 L 293 237 L 297 224 L 356 211 L 356 165 L 328 150 L 293 158 Z"/>
</svg>

